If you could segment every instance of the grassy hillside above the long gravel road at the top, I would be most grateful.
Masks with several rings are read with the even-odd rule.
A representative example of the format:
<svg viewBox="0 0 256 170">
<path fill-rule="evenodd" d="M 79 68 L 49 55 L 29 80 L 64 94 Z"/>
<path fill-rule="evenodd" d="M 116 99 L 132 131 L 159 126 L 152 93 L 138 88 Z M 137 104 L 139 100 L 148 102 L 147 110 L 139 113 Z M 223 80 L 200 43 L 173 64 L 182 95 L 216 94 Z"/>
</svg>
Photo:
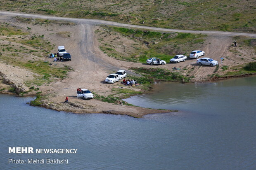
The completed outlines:
<svg viewBox="0 0 256 170">
<path fill-rule="evenodd" d="M 256 32 L 254 0 L 1 0 L 0 10 L 163 28 Z"/>
</svg>

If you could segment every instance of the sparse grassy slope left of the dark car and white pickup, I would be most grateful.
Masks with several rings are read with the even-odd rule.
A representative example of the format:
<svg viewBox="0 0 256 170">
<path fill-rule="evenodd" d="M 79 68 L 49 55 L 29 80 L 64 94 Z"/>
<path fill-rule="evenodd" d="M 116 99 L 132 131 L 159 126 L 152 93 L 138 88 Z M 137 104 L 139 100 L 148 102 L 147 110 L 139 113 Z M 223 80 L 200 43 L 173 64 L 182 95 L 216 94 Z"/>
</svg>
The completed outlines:
<svg viewBox="0 0 256 170">
<path fill-rule="evenodd" d="M 27 86 L 33 84 L 40 86 L 57 79 L 64 79 L 71 70 L 68 66 L 50 66 L 48 62 L 40 59 L 52 50 L 52 45 L 43 35 L 29 35 L 28 32 L 22 32 L 6 23 L 1 23 L 0 33 L 7 36 L 0 39 L 0 61 L 39 75 L 32 81 L 26 82 Z"/>
</svg>

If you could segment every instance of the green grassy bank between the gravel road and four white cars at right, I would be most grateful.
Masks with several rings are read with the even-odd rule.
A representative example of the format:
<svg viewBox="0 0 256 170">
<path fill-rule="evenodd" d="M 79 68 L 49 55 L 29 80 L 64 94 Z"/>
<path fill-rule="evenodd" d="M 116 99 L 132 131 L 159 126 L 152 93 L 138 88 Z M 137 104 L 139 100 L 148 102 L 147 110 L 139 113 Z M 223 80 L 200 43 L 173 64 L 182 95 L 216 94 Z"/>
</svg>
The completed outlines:
<svg viewBox="0 0 256 170">
<path fill-rule="evenodd" d="M 120 51 L 120 44 L 118 44 L 117 47 L 113 45 L 114 41 L 118 41 L 120 38 L 116 37 L 100 46 L 100 49 L 102 49 L 104 53 L 119 60 L 141 63 L 145 63 L 145 61 L 151 57 L 158 57 L 168 62 L 177 54 L 187 55 L 191 52 L 190 49 L 196 49 L 200 44 L 203 44 L 206 37 L 206 35 L 192 33 L 159 33 L 119 27 L 105 28 L 109 30 L 109 32 L 104 35 L 104 37 L 120 33 L 126 36 L 127 39 L 137 43 L 132 44 L 134 49 L 130 51 Z M 104 32 L 99 30 L 97 32 L 104 34 Z M 102 41 L 104 41 L 104 37 L 102 37 Z M 145 45 L 143 46 L 142 44 L 147 44 L 147 47 L 145 48 Z"/>
</svg>

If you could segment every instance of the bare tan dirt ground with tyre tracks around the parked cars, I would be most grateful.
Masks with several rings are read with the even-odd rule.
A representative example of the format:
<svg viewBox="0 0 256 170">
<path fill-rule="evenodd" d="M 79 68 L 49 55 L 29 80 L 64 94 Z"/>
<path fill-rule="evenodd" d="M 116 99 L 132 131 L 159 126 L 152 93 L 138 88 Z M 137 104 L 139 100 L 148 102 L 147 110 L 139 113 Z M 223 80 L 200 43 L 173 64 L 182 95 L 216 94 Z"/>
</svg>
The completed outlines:
<svg viewBox="0 0 256 170">
<path fill-rule="evenodd" d="M 42 91 L 43 95 L 47 97 L 45 100 L 42 101 L 44 107 L 74 113 L 86 112 L 126 114 L 134 117 L 142 117 L 145 114 L 151 113 L 170 112 L 168 110 L 155 110 L 127 106 L 123 105 L 122 102 L 120 102 L 119 105 L 116 105 L 102 102 L 96 99 L 82 100 L 76 98 L 76 89 L 78 87 L 88 88 L 90 89 L 90 91 L 104 96 L 108 96 L 109 94 L 111 94 L 112 88 L 119 87 L 140 91 L 141 89 L 139 87 L 122 86 L 119 83 L 106 84 L 104 82 L 104 79 L 107 77 L 107 75 L 109 75 L 109 73 L 116 72 L 120 68 L 126 69 L 128 74 L 136 75 L 128 69 L 130 67 L 152 67 L 143 63 L 119 61 L 107 56 L 107 54 L 104 54 L 99 49 L 99 42 L 97 41 L 97 37 L 95 37 L 94 33 L 95 30 L 98 29 L 98 27 L 94 27 L 86 23 L 77 23 L 76 25 L 72 26 L 59 26 L 57 24 L 32 25 L 31 23 L 16 21 L 10 16 L 0 16 L 0 21 L 10 23 L 13 26 L 19 26 L 19 28 L 23 30 L 26 30 L 27 27 L 30 27 L 30 33 L 32 35 L 37 33 L 43 33 L 44 38 L 50 41 L 51 44 L 56 47 L 52 52 L 57 52 L 57 47 L 60 45 L 64 45 L 66 47 L 66 50 L 72 55 L 72 61 L 55 62 L 57 65 L 69 65 L 73 68 L 73 71 L 69 72 L 67 78 L 61 81 L 53 82 L 50 85 L 44 84 L 40 86 L 40 91 Z M 206 51 L 206 54 L 211 54 L 210 57 L 216 59 L 217 61 L 219 61 L 219 58 L 221 56 L 229 55 L 229 51 L 227 51 L 227 49 L 230 47 L 230 42 L 232 42 L 231 37 L 211 36 L 209 38 L 209 42 L 211 42 L 211 44 L 206 44 L 204 47 L 202 47 L 202 50 Z M 122 40 L 126 41 L 125 38 L 123 38 Z M 249 60 L 251 60 L 246 50 L 242 50 L 240 52 L 243 53 L 244 58 L 246 58 L 246 60 L 243 62 L 248 62 Z M 45 58 L 44 60 L 52 59 Z M 227 64 L 233 66 L 237 65 L 240 62 L 237 61 L 237 59 L 235 58 L 232 58 L 232 60 L 230 57 L 230 61 L 228 61 L 229 63 L 227 62 Z M 188 60 L 186 62 L 181 62 L 177 64 L 178 67 L 186 67 L 187 72 L 184 72 L 184 74 L 194 75 L 194 81 L 203 81 L 205 78 L 207 78 L 207 75 L 211 75 L 213 70 L 215 69 L 214 67 L 199 67 L 194 63 L 195 60 Z M 153 65 L 153 67 L 157 66 Z M 171 68 L 173 68 L 173 64 L 166 64 L 163 67 L 171 70 Z M 196 67 L 196 69 L 192 70 L 192 68 L 194 67 Z M 8 69 L 6 70 L 6 68 Z M 12 82 L 17 84 L 22 84 L 22 82 L 26 82 L 27 79 L 32 79 L 32 77 L 34 76 L 31 71 L 20 68 L 13 68 L 10 63 L 9 65 L 1 63 L 0 70 L 2 77 L 12 77 Z M 188 73 L 189 70 L 191 70 L 190 73 Z M 6 86 L 4 84 L 5 82 L 2 81 L 2 83 L 0 84 L 0 88 L 4 88 Z M 69 103 L 64 103 L 64 99 L 66 98 L 66 96 L 69 97 Z"/>
</svg>

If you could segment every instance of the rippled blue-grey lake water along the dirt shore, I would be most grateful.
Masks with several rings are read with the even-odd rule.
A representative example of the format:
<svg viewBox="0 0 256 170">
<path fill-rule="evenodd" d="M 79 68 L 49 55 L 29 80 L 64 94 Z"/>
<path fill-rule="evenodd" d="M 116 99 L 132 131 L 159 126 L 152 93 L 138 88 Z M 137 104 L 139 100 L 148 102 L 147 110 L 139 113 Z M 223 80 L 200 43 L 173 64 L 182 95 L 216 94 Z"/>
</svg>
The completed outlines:
<svg viewBox="0 0 256 170">
<path fill-rule="evenodd" d="M 214 83 L 161 82 L 126 99 L 177 109 L 142 119 L 32 107 L 0 95 L 0 169 L 254 170 L 256 77 Z M 8 154 L 8 147 L 78 149 L 76 154 Z M 8 164 L 8 158 L 68 158 L 69 164 Z"/>
</svg>

